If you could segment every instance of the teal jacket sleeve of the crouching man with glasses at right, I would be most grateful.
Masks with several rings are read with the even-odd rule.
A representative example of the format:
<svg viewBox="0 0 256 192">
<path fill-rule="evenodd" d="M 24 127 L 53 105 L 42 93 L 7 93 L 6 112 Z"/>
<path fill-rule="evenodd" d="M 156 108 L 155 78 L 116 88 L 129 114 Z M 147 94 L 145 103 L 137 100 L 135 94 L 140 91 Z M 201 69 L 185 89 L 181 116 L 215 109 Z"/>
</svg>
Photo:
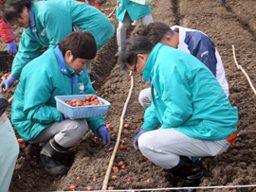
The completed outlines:
<svg viewBox="0 0 256 192">
<path fill-rule="evenodd" d="M 169 63 L 169 70 L 159 70 L 161 101 L 166 106 L 160 129 L 175 128 L 182 125 L 192 115 L 192 96 L 188 83 L 189 69 Z M 172 74 L 172 75 L 170 75 Z"/>
</svg>

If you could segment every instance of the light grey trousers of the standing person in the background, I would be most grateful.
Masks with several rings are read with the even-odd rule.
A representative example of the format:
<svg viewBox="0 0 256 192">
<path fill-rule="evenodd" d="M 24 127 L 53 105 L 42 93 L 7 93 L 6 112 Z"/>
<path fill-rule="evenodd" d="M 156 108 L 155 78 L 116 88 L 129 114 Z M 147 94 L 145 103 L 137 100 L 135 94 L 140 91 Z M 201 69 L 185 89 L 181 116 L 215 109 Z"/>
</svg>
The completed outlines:
<svg viewBox="0 0 256 192">
<path fill-rule="evenodd" d="M 154 22 L 152 14 L 141 17 L 140 20 L 143 26 L 148 26 L 150 23 Z M 117 41 L 118 41 L 119 51 L 121 50 L 121 46 L 126 41 L 126 31 L 128 26 L 131 25 L 131 23 L 132 23 L 132 20 L 126 11 L 124 19 L 122 22 L 119 22 L 119 27 L 117 29 Z"/>
</svg>

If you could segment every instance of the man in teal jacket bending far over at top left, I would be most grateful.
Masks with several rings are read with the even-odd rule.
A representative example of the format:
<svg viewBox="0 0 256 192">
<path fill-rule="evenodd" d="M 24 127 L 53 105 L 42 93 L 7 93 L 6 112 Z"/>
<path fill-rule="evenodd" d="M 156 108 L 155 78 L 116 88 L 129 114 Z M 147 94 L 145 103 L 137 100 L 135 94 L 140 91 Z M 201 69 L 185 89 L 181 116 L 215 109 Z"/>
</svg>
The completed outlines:
<svg viewBox="0 0 256 192">
<path fill-rule="evenodd" d="M 25 28 L 12 62 L 10 78 L 1 83 L 1 91 L 4 87 L 8 90 L 15 79 L 20 78 L 23 67 L 38 57 L 43 47 L 55 46 L 73 30 L 90 32 L 95 38 L 97 50 L 115 32 L 101 10 L 71 0 L 5 0 L 1 10 L 5 22 Z"/>
</svg>

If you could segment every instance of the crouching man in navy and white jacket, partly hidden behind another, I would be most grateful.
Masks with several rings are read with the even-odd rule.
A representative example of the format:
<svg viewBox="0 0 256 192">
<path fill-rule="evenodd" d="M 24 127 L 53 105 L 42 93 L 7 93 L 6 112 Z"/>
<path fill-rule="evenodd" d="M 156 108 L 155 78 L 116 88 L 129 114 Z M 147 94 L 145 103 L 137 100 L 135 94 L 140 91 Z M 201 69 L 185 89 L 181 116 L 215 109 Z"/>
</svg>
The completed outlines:
<svg viewBox="0 0 256 192">
<path fill-rule="evenodd" d="M 229 97 L 229 84 L 220 55 L 215 45 L 206 34 L 201 31 L 182 26 L 168 26 L 164 23 L 152 23 L 140 32 L 153 44 L 162 43 L 192 54 L 202 61 L 219 81 L 226 96 Z M 142 107 L 151 105 L 150 88 L 144 89 L 138 96 Z"/>
</svg>

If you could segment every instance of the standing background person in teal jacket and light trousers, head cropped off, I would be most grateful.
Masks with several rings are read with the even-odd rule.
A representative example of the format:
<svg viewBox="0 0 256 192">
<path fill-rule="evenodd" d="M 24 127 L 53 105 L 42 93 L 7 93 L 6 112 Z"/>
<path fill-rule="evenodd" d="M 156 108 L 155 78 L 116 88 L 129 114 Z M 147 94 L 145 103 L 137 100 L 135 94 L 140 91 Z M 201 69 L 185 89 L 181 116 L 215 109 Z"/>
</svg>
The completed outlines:
<svg viewBox="0 0 256 192">
<path fill-rule="evenodd" d="M 137 19 L 141 20 L 143 26 L 153 23 L 154 20 L 151 12 L 152 11 L 149 5 L 140 5 L 130 0 L 118 0 L 116 13 L 119 21 L 119 27 L 117 29 L 119 51 L 116 53 L 116 57 L 119 57 L 121 46 L 126 41 L 126 31 L 128 26 L 131 25 L 132 21 Z"/>
</svg>

